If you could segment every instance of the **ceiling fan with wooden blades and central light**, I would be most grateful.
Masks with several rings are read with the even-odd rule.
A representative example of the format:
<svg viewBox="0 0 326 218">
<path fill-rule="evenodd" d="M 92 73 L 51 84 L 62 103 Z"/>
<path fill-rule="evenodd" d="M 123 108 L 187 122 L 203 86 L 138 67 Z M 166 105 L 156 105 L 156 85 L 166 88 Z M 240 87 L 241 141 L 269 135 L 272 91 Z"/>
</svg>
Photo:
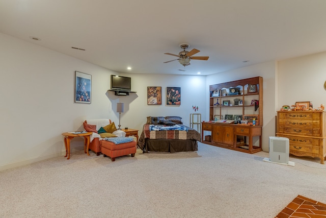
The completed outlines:
<svg viewBox="0 0 326 218">
<path fill-rule="evenodd" d="M 200 51 L 197 50 L 197 49 L 193 49 L 192 51 L 188 52 L 188 51 L 185 51 L 188 47 L 189 47 L 189 44 L 187 43 L 181 43 L 179 45 L 181 47 L 181 49 L 183 49 L 183 51 L 179 52 L 179 55 L 174 55 L 174 54 L 171 54 L 171 53 L 164 53 L 165 55 L 172 55 L 172 56 L 176 56 L 178 57 L 178 59 L 174 59 L 172 61 L 175 61 L 175 60 L 179 60 L 179 63 L 183 66 L 188 66 L 190 65 L 190 60 L 204 60 L 204 61 L 207 61 L 208 60 L 208 56 L 197 56 L 197 57 L 192 57 L 193 55 L 199 53 Z M 164 63 L 169 63 L 171 61 L 167 61 L 167 62 L 164 62 Z"/>
</svg>

